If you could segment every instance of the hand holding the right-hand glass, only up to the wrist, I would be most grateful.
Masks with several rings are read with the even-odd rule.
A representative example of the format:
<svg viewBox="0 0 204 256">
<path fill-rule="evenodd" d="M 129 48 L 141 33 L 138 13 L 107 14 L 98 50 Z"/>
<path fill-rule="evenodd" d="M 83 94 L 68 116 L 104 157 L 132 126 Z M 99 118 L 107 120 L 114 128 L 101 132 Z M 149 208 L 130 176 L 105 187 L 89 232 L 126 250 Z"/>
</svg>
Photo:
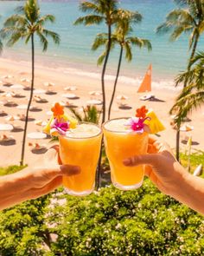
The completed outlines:
<svg viewBox="0 0 204 256">
<path fill-rule="evenodd" d="M 153 136 L 149 138 L 148 153 L 125 159 L 124 165 L 134 167 L 145 164 L 145 175 L 164 194 L 175 197 L 188 172 L 175 160 L 169 145 L 157 141 Z"/>
</svg>

